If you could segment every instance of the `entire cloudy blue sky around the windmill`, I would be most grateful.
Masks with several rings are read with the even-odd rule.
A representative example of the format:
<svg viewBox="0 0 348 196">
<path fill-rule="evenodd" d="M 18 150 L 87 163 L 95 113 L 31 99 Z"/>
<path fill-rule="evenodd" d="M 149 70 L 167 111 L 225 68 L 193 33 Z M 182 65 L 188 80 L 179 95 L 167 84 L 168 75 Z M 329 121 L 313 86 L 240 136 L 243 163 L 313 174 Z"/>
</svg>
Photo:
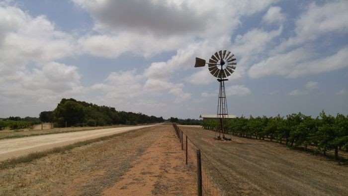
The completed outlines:
<svg viewBox="0 0 348 196">
<path fill-rule="evenodd" d="M 347 0 L 0 0 L 0 117 L 62 98 L 148 115 L 216 113 L 195 57 L 237 58 L 228 111 L 348 114 Z"/>
</svg>

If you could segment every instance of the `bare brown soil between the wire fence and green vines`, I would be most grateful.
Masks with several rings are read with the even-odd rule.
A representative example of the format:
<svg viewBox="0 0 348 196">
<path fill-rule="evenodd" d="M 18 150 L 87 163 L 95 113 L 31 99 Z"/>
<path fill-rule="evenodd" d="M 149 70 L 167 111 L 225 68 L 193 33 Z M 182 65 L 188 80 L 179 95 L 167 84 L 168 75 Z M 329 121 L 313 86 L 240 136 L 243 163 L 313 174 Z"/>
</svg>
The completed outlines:
<svg viewBox="0 0 348 196">
<path fill-rule="evenodd" d="M 224 195 L 348 195 L 348 167 L 320 155 L 291 150 L 274 142 L 180 126 L 202 151 L 208 169 Z"/>
</svg>

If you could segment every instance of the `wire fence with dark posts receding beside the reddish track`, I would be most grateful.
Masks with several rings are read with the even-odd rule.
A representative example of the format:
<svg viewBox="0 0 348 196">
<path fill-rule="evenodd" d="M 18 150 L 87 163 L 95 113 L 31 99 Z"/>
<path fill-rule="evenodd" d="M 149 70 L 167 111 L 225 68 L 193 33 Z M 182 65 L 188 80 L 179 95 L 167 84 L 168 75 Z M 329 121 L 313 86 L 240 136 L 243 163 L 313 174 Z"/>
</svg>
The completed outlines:
<svg viewBox="0 0 348 196">
<path fill-rule="evenodd" d="M 215 183 L 211 172 L 216 172 L 225 181 L 227 179 L 221 174 L 216 165 L 210 161 L 206 153 L 201 151 L 198 146 L 180 128 L 173 123 L 177 138 L 181 144 L 181 150 L 185 151 L 185 163 L 196 173 L 196 185 L 198 196 L 224 196 L 225 193 Z"/>
</svg>

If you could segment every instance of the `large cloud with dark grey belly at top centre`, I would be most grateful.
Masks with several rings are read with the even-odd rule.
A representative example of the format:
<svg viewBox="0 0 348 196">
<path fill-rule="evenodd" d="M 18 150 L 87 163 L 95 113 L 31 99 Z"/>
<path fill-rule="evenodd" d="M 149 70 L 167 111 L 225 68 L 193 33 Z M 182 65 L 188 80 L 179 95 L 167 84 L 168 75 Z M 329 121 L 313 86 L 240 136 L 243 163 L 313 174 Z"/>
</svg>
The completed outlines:
<svg viewBox="0 0 348 196">
<path fill-rule="evenodd" d="M 241 16 L 259 12 L 275 2 L 218 0 L 212 4 L 209 0 L 73 1 L 87 10 L 94 20 L 93 31 L 79 41 L 83 50 L 107 58 L 116 58 L 127 52 L 149 57 L 165 51 L 184 50 L 186 45 L 197 44 L 201 40 L 213 42 L 230 37 L 240 24 Z M 214 26 L 219 28 L 212 28 Z M 114 49 L 112 46 L 115 45 L 121 47 Z M 214 48 L 211 50 L 214 51 Z"/>
</svg>

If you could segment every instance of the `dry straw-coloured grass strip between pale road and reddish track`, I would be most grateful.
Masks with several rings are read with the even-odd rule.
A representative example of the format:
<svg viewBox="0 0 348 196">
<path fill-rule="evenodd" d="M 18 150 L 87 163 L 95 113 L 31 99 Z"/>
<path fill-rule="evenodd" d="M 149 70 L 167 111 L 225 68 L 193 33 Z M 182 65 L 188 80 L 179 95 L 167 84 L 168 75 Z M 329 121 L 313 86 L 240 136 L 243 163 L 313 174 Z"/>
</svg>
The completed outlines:
<svg viewBox="0 0 348 196">
<path fill-rule="evenodd" d="M 156 139 L 154 128 L 79 142 L 2 165 L 0 195 L 98 195 Z"/>
</svg>

